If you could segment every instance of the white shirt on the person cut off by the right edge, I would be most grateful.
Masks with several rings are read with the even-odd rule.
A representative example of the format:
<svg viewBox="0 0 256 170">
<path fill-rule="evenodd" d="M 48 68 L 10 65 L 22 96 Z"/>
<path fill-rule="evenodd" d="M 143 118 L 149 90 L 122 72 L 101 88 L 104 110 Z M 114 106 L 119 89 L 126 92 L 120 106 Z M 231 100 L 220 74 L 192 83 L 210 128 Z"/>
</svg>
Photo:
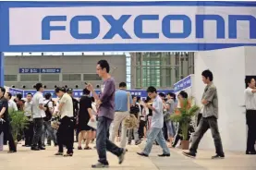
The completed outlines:
<svg viewBox="0 0 256 170">
<path fill-rule="evenodd" d="M 250 87 L 245 90 L 245 107 L 247 110 L 256 110 L 256 93 Z"/>
</svg>

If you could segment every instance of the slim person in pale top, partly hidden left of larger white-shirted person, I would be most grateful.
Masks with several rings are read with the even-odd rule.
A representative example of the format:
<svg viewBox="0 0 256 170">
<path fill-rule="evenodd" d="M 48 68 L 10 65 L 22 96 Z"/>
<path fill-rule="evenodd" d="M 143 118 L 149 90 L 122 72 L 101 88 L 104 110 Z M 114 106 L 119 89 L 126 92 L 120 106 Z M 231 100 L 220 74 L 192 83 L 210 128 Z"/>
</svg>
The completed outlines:
<svg viewBox="0 0 256 170">
<path fill-rule="evenodd" d="M 32 94 L 27 94 L 27 101 L 24 104 L 24 115 L 28 118 L 28 127 L 24 129 L 25 144 L 23 147 L 31 147 L 33 139 L 33 118 L 32 118 Z"/>
</svg>

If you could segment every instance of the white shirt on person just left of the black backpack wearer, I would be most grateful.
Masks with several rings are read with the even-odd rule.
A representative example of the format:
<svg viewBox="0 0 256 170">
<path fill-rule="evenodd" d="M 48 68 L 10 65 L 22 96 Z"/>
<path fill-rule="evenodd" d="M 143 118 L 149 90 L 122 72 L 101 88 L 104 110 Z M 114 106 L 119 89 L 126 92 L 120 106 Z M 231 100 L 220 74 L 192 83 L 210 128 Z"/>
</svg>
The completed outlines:
<svg viewBox="0 0 256 170">
<path fill-rule="evenodd" d="M 43 93 L 37 91 L 32 98 L 32 116 L 33 118 L 43 118 L 45 117 L 45 112 L 39 108 L 40 104 L 43 104 Z"/>
</svg>

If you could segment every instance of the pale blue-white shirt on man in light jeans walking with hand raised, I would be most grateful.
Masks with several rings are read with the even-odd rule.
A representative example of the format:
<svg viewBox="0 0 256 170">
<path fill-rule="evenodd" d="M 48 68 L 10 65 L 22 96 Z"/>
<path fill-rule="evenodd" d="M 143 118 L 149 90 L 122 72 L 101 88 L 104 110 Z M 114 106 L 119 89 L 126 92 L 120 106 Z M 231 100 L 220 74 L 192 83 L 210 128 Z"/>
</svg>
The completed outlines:
<svg viewBox="0 0 256 170">
<path fill-rule="evenodd" d="M 156 98 L 152 102 L 152 107 L 155 109 L 155 111 L 152 111 L 152 128 L 163 128 L 164 127 L 164 115 L 163 115 L 163 109 L 164 104 L 162 99 L 159 96 L 156 96 Z"/>
</svg>

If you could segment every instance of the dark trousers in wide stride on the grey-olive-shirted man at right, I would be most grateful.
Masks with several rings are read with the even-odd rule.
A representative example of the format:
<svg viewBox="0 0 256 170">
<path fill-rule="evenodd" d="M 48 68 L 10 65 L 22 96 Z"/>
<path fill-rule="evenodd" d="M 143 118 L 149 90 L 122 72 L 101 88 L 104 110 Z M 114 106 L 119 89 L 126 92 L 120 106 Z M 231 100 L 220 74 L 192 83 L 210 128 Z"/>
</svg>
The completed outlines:
<svg viewBox="0 0 256 170">
<path fill-rule="evenodd" d="M 214 116 L 206 117 L 206 118 L 201 117 L 199 126 L 193 135 L 193 139 L 192 139 L 192 143 L 189 151 L 193 153 L 197 152 L 198 145 L 201 141 L 201 138 L 203 137 L 204 133 L 208 130 L 208 128 L 211 128 L 211 131 L 212 131 L 216 153 L 218 155 L 224 155 L 217 119 Z"/>
</svg>

